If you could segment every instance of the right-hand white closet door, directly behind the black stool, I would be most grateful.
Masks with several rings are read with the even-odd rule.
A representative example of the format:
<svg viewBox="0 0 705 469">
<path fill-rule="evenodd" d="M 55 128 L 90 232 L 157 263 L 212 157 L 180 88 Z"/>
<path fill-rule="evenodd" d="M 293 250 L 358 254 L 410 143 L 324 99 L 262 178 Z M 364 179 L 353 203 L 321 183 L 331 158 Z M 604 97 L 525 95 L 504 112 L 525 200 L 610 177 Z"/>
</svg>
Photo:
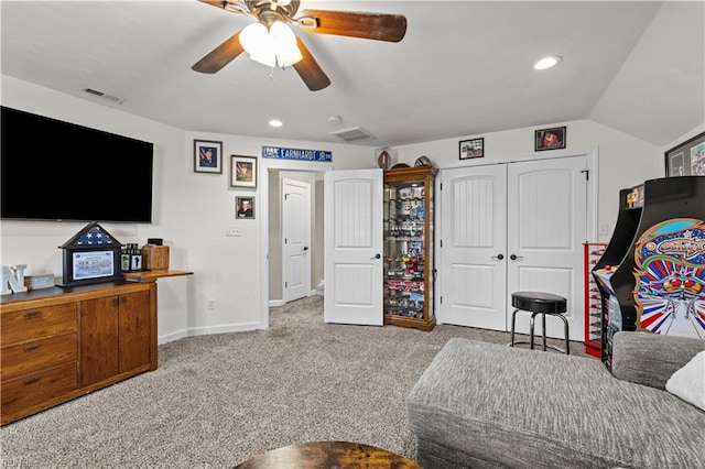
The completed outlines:
<svg viewBox="0 0 705 469">
<path fill-rule="evenodd" d="M 540 160 L 508 166 L 508 295 L 540 291 L 564 296 L 572 340 L 583 340 L 585 330 L 586 172 L 586 157 Z M 510 309 L 513 310 L 511 304 Z M 528 316 L 517 315 L 517 330 L 529 330 Z M 536 332 L 540 330 L 538 324 Z M 563 337 L 563 321 L 549 318 L 546 334 Z"/>
</svg>

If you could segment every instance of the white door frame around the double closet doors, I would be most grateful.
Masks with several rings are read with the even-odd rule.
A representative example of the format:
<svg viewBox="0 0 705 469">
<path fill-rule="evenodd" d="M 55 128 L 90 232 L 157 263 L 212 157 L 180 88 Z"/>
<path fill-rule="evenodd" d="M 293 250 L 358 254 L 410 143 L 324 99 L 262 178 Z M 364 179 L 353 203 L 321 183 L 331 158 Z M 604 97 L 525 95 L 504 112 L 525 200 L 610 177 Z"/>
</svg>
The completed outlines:
<svg viewBox="0 0 705 469">
<path fill-rule="evenodd" d="M 585 156 L 587 161 L 587 171 L 589 172 L 588 173 L 589 177 L 587 179 L 587 194 L 586 194 L 586 200 L 587 200 L 586 211 L 587 212 L 586 212 L 586 220 L 585 220 L 586 232 L 589 239 L 586 239 L 585 241 L 596 240 L 597 239 L 597 215 L 598 215 L 598 206 L 599 206 L 598 193 L 597 193 L 597 188 L 599 187 L 598 185 L 599 148 L 597 145 L 589 146 L 586 149 L 576 149 L 576 150 L 552 150 L 550 154 L 530 153 L 530 154 L 507 156 L 507 157 L 491 159 L 491 160 L 485 160 L 485 159 L 474 159 L 470 161 L 465 160 L 463 162 L 455 163 L 452 165 L 440 166 L 438 177 L 436 177 L 436 194 L 441 195 L 441 185 L 443 184 L 443 179 L 444 179 L 444 175 L 443 175 L 444 170 L 454 170 L 454 168 L 467 167 L 467 166 L 486 166 L 491 164 L 520 163 L 520 162 L 539 161 L 539 160 L 577 157 L 577 156 Z M 441 241 L 443 239 L 443 226 L 438 218 L 443 211 L 442 200 L 443 200 L 442 196 L 436 197 L 436 210 L 435 210 L 436 219 L 434 221 L 437 230 L 436 237 L 435 237 L 435 247 L 434 247 L 435 252 L 437 253 L 436 255 L 438 255 L 438 259 L 436 260 L 436 265 L 442 265 L 442 261 L 443 261 L 443 250 L 441 249 Z M 438 275 L 436 280 L 436 291 L 441 291 L 440 288 L 442 288 L 443 282 L 444 282 L 443 272 L 438 270 Z M 435 295 L 433 307 L 434 307 L 434 310 L 441 313 L 441 315 L 436 314 L 436 323 L 443 324 L 443 314 L 441 309 L 441 295 Z"/>
</svg>

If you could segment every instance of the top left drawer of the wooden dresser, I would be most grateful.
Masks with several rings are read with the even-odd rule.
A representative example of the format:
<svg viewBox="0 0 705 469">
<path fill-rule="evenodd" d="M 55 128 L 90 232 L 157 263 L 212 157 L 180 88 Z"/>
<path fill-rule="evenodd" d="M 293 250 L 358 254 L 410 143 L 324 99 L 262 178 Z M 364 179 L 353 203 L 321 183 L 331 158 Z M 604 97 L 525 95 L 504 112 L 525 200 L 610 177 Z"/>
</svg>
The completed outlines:
<svg viewBox="0 0 705 469">
<path fill-rule="evenodd" d="M 76 330 L 76 303 L 3 314 L 0 327 L 3 346 L 73 332 Z"/>
</svg>

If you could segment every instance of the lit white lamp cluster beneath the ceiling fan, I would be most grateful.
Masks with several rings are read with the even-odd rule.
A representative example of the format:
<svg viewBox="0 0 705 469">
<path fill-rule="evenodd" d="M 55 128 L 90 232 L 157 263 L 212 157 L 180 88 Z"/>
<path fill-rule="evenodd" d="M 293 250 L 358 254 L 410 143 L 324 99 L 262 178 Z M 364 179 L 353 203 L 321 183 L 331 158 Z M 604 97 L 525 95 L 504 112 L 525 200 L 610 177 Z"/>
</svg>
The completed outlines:
<svg viewBox="0 0 705 469">
<path fill-rule="evenodd" d="M 250 24 L 240 33 L 240 45 L 252 61 L 270 67 L 288 67 L 303 58 L 294 32 L 281 21 L 274 21 L 269 30 L 259 22 Z"/>
</svg>

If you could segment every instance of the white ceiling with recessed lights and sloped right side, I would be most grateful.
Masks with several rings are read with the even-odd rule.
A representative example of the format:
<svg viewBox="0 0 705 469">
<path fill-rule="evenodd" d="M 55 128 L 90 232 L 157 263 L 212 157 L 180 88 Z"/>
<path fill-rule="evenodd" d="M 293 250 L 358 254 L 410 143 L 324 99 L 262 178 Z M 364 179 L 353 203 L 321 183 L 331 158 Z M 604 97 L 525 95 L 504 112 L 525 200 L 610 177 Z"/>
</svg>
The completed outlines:
<svg viewBox="0 0 705 469">
<path fill-rule="evenodd" d="M 296 34 L 332 85 L 242 54 L 191 66 L 253 20 L 195 0 L 1 2 L 2 74 L 180 129 L 394 146 L 592 119 L 655 145 L 705 122 L 703 1 L 302 1 L 401 13 L 400 43 Z M 542 55 L 563 57 L 535 72 Z M 118 105 L 83 91 L 126 99 Z M 329 116 L 343 122 L 333 124 Z M 284 121 L 270 129 L 271 118 Z"/>
</svg>

